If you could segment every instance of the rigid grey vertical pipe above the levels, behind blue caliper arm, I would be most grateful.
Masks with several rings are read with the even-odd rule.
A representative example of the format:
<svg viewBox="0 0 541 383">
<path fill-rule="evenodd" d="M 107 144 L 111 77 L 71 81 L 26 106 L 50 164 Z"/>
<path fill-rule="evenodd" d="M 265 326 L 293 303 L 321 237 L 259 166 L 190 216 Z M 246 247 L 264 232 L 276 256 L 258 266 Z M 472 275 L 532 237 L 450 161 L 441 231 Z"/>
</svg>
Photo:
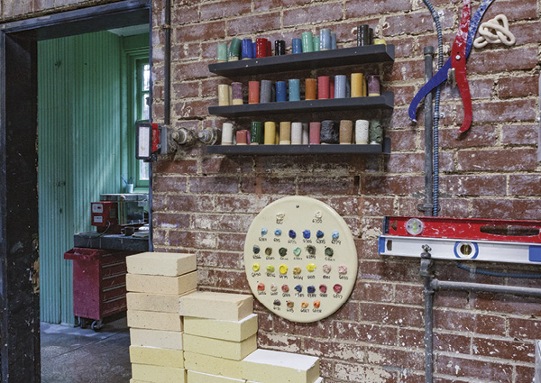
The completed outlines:
<svg viewBox="0 0 541 383">
<path fill-rule="evenodd" d="M 434 47 L 425 47 L 425 82 L 433 76 Z M 433 120 L 432 93 L 425 97 L 425 216 L 432 215 L 433 208 Z"/>
</svg>

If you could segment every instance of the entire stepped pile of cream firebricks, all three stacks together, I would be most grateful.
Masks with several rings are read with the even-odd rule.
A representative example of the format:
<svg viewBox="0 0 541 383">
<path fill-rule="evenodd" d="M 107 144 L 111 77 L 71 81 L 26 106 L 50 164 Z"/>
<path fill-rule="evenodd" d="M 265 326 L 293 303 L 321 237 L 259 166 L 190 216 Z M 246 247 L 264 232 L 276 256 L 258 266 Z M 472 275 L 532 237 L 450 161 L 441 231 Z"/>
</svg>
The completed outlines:
<svg viewBox="0 0 541 383">
<path fill-rule="evenodd" d="M 195 256 L 128 258 L 131 383 L 321 383 L 319 359 L 257 350 L 253 296 L 195 292 Z"/>
</svg>

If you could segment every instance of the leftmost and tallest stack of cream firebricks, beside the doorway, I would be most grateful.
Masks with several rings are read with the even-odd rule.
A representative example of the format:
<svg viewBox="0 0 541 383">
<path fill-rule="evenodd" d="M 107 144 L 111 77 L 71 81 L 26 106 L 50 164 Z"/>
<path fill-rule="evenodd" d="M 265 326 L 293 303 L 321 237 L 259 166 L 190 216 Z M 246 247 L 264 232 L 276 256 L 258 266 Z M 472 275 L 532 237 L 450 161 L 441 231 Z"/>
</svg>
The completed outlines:
<svg viewBox="0 0 541 383">
<path fill-rule="evenodd" d="M 195 255 L 146 252 L 126 259 L 132 383 L 185 383 L 179 297 L 197 288 Z"/>
</svg>

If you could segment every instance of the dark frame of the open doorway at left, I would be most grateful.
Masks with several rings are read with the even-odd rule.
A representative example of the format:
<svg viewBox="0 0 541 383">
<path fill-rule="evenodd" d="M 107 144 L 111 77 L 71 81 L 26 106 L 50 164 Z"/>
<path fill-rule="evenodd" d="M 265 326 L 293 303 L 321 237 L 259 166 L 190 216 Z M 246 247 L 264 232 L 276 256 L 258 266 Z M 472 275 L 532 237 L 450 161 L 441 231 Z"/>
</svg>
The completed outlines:
<svg viewBox="0 0 541 383">
<path fill-rule="evenodd" d="M 41 381 L 37 41 L 151 23 L 127 0 L 0 25 L 0 381 Z M 151 47 L 151 44 L 150 44 Z"/>
</svg>

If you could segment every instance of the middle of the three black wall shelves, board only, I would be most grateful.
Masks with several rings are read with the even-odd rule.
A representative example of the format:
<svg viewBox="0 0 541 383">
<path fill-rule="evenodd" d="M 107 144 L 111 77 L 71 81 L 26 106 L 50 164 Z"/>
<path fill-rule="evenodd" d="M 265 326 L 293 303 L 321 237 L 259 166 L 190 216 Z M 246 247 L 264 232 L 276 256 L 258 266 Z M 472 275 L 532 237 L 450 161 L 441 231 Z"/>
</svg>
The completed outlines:
<svg viewBox="0 0 541 383">
<path fill-rule="evenodd" d="M 283 103 L 209 106 L 208 113 L 224 117 L 242 117 L 256 114 L 288 114 L 333 112 L 353 109 L 392 109 L 394 93 L 383 92 L 381 96 L 329 98 L 326 100 L 286 101 Z"/>
</svg>

